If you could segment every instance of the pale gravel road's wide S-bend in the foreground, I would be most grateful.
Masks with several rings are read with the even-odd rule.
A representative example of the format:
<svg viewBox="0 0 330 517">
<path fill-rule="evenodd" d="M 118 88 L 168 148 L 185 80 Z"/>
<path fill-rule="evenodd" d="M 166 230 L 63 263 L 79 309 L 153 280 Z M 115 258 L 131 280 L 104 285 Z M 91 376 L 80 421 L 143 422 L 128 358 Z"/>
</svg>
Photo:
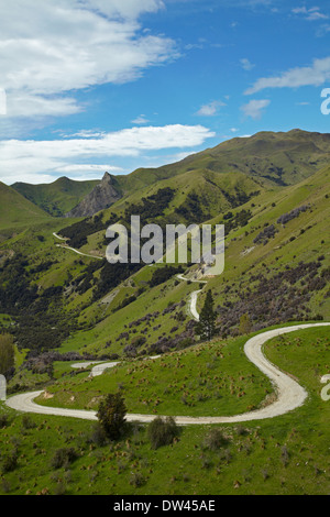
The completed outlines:
<svg viewBox="0 0 330 517">
<path fill-rule="evenodd" d="M 309 329 L 311 327 L 326 327 L 330 323 L 307 323 L 294 327 L 285 327 L 282 329 L 268 330 L 257 334 L 246 341 L 244 352 L 248 359 L 255 364 L 273 383 L 277 394 L 276 400 L 262 409 L 255 411 L 237 415 L 234 417 L 182 417 L 176 416 L 176 422 L 180 426 L 187 425 L 206 425 L 206 424 L 234 424 L 252 420 L 264 420 L 285 415 L 294 409 L 302 406 L 306 402 L 307 392 L 289 375 L 278 370 L 263 354 L 263 345 L 266 341 L 280 334 L 294 332 L 296 330 Z M 35 413 L 40 415 L 56 415 L 63 417 L 80 418 L 85 420 L 97 420 L 95 411 L 85 411 L 76 409 L 63 409 L 55 407 L 38 406 L 34 399 L 43 392 L 25 393 L 16 395 L 7 400 L 7 405 L 15 410 L 24 413 Z M 151 422 L 155 415 L 128 415 L 128 421 Z"/>
</svg>

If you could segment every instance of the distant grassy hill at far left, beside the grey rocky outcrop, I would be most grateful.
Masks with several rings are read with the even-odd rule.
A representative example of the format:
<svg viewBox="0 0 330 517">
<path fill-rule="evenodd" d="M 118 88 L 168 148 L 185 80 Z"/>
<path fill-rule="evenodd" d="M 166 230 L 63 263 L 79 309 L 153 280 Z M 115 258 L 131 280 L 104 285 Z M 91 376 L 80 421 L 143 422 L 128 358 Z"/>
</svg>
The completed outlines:
<svg viewBox="0 0 330 517">
<path fill-rule="evenodd" d="M 99 180 L 75 182 L 62 177 L 45 185 L 15 183 L 12 188 L 51 216 L 63 217 L 99 183 Z"/>
</svg>

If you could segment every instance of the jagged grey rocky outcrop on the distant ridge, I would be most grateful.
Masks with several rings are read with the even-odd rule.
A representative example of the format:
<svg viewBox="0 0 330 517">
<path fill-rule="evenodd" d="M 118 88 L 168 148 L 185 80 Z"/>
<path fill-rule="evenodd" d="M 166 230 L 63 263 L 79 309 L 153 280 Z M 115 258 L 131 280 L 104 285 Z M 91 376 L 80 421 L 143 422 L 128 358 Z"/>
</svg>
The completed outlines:
<svg viewBox="0 0 330 517">
<path fill-rule="evenodd" d="M 70 210 L 66 217 L 91 217 L 100 210 L 111 207 L 121 198 L 120 193 L 114 188 L 114 178 L 106 173 L 102 182 L 97 185 L 77 207 Z"/>
</svg>

